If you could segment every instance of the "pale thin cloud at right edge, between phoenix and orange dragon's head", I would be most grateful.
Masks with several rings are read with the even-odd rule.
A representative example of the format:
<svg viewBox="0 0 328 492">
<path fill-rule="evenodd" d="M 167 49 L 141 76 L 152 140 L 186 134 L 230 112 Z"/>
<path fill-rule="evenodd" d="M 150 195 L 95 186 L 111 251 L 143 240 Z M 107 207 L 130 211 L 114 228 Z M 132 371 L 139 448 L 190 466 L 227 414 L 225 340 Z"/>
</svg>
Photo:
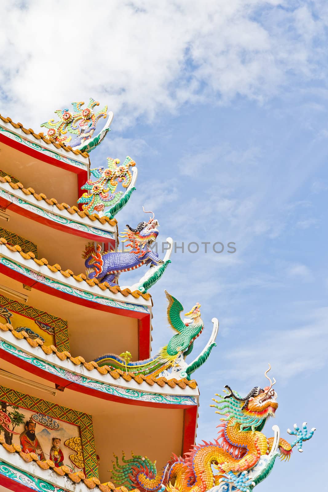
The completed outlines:
<svg viewBox="0 0 328 492">
<path fill-rule="evenodd" d="M 306 317 L 311 318 L 309 322 L 304 324 L 299 320 L 295 329 L 288 329 L 288 321 L 285 321 L 284 330 L 263 331 L 261 339 L 256 340 L 249 335 L 245 348 L 240 348 L 239 344 L 239 348 L 221 353 L 221 367 L 224 370 L 213 371 L 206 385 L 211 387 L 217 380 L 226 381 L 224 384 L 230 384 L 231 379 L 247 383 L 258 381 L 268 362 L 272 367 L 272 376 L 281 384 L 327 366 L 328 307 L 314 309 L 310 314 L 307 312 Z M 290 320 L 292 322 L 295 323 L 295 320 Z M 258 333 L 253 336 L 258 336 Z"/>
</svg>

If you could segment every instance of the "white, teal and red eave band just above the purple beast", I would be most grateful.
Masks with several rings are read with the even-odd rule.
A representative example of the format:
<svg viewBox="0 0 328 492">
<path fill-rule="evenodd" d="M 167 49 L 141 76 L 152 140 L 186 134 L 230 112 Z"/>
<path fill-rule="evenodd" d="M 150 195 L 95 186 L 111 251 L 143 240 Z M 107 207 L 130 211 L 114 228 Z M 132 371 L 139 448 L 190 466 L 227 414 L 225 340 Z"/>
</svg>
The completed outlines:
<svg viewBox="0 0 328 492">
<path fill-rule="evenodd" d="M 60 211 L 32 194 L 25 195 L 21 189 L 12 189 L 9 183 L 0 182 L 0 205 L 51 228 L 98 242 L 116 244 L 116 227 L 108 222 L 95 224 L 88 216 Z"/>
</svg>

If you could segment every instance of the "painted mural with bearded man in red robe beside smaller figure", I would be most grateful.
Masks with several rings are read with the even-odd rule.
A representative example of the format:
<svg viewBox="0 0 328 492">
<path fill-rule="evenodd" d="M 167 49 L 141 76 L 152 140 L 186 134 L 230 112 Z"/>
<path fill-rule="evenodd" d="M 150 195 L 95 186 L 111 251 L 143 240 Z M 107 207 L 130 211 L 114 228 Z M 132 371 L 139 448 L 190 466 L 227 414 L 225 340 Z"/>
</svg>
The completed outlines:
<svg viewBox="0 0 328 492">
<path fill-rule="evenodd" d="M 7 444 L 19 444 L 25 453 L 73 472 L 84 468 L 80 428 L 0 400 L 0 434 Z"/>
</svg>

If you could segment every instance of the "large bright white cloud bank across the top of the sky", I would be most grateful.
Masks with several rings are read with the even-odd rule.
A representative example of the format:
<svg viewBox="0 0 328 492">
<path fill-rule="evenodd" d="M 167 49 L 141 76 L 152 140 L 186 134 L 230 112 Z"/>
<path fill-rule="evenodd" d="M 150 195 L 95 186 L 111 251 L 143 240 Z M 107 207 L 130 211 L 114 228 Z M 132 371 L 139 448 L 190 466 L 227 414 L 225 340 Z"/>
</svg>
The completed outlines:
<svg viewBox="0 0 328 492">
<path fill-rule="evenodd" d="M 261 102 L 290 74 L 324 78 L 320 11 L 281 4 L 1 2 L 1 112 L 37 129 L 55 109 L 92 96 L 119 113 L 118 128 L 209 96 Z"/>
</svg>

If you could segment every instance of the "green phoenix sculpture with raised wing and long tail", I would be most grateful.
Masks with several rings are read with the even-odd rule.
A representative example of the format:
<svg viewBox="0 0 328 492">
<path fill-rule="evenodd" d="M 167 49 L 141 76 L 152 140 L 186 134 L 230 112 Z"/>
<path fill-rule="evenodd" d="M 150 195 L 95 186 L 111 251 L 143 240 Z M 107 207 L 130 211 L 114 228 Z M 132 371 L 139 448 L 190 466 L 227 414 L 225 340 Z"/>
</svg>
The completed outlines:
<svg viewBox="0 0 328 492">
<path fill-rule="evenodd" d="M 133 372 L 135 375 L 153 374 L 154 376 L 158 376 L 159 374 L 167 375 L 165 371 L 175 367 L 175 375 L 178 375 L 179 369 L 183 369 L 183 376 L 190 377 L 192 371 L 190 370 L 188 372 L 188 365 L 185 364 L 184 366 L 183 362 L 186 356 L 192 351 L 194 340 L 199 337 L 204 329 L 200 311 L 201 305 L 196 303 L 190 311 L 185 313 L 185 319 L 182 321 L 180 317 L 180 313 L 183 310 L 181 303 L 167 291 L 165 291 L 165 294 L 168 300 L 167 319 L 170 326 L 176 332 L 169 343 L 162 347 L 155 356 L 147 360 L 126 363 L 121 356 L 106 354 L 95 359 L 99 366 L 106 365 L 111 369 Z M 211 349 L 215 346 L 214 340 L 206 351 L 206 357 L 203 355 L 202 358 L 197 359 L 199 361 L 197 368 L 209 357 Z M 197 368 L 193 368 L 193 370 Z"/>
</svg>

